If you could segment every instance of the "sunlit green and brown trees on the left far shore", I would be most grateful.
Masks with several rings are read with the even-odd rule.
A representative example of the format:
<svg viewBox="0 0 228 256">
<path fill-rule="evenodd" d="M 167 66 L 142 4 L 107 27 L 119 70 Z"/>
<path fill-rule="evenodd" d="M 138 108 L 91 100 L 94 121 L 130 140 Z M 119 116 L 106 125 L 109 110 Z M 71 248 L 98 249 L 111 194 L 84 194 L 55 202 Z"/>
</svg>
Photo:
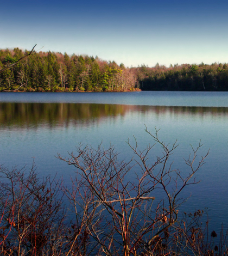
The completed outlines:
<svg viewBox="0 0 228 256">
<path fill-rule="evenodd" d="M 28 55 L 19 48 L 0 51 L 0 69 Z M 136 76 L 123 64 L 93 56 L 54 52 L 33 52 L 0 73 L 1 90 L 38 92 L 128 91 L 134 90 Z"/>
</svg>

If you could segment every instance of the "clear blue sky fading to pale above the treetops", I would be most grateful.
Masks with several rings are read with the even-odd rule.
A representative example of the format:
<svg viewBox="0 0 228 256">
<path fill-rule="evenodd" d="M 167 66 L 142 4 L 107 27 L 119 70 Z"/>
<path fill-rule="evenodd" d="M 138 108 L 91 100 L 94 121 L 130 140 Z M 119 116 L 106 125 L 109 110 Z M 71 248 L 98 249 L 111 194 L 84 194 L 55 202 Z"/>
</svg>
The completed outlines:
<svg viewBox="0 0 228 256">
<path fill-rule="evenodd" d="M 0 0 L 0 48 L 125 66 L 228 62 L 228 1 Z"/>
</svg>

